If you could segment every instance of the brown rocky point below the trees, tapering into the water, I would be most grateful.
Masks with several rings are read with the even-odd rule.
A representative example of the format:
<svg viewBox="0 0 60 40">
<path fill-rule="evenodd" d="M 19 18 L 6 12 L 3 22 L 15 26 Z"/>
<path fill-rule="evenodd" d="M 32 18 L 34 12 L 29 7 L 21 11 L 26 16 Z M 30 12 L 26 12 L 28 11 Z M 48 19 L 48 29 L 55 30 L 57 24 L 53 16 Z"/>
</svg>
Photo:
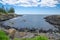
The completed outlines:
<svg viewBox="0 0 60 40">
<path fill-rule="evenodd" d="M 0 22 L 12 19 L 12 18 L 17 17 L 17 16 L 22 16 L 22 15 L 17 15 L 15 13 L 8 13 L 8 14 L 0 13 Z"/>
</svg>

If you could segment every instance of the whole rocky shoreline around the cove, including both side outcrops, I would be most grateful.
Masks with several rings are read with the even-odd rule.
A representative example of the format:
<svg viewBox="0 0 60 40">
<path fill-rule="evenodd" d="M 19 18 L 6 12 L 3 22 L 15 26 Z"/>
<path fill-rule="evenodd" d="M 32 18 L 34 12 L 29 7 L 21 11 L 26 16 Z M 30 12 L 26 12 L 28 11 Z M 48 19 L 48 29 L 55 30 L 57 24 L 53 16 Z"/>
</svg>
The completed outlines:
<svg viewBox="0 0 60 40">
<path fill-rule="evenodd" d="M 6 15 L 2 16 L 0 18 L 0 20 L 1 20 L 0 22 L 12 19 L 12 18 L 17 17 L 17 16 L 18 15 L 15 15 L 15 16 L 12 16 L 11 18 L 9 18 Z M 3 18 L 3 20 L 2 20 L 2 18 Z M 7 18 L 7 19 L 5 19 L 5 18 Z M 58 16 L 58 15 L 57 16 L 56 15 L 47 16 L 47 17 L 45 17 L 45 19 L 47 22 L 49 22 L 53 25 L 59 25 L 60 24 L 60 23 L 58 23 L 58 22 L 60 22 L 59 21 L 60 16 Z M 28 28 L 17 29 L 17 28 L 9 27 L 9 26 L 6 27 L 6 26 L 2 25 L 1 23 L 0 23 L 0 29 L 4 30 L 9 35 L 11 35 L 11 33 L 13 33 L 15 38 L 31 38 L 31 37 L 34 37 L 36 35 L 44 35 L 44 36 L 47 36 L 49 38 L 49 40 L 60 40 L 60 33 L 59 32 L 55 33 L 51 29 L 48 31 L 45 31 L 42 29 L 38 30 L 38 29 L 34 29 L 34 28 L 32 28 L 32 29 L 28 29 Z M 15 31 L 15 33 L 14 33 L 14 31 Z"/>
</svg>

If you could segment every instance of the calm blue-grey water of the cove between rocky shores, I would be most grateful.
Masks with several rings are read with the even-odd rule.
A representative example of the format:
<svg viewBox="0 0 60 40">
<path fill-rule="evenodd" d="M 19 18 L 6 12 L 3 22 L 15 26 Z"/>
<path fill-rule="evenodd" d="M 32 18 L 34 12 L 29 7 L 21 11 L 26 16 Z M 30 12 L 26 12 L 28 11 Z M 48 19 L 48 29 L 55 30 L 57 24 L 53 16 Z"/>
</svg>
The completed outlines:
<svg viewBox="0 0 60 40">
<path fill-rule="evenodd" d="M 5 21 L 3 24 L 6 26 L 16 27 L 16 28 L 42 28 L 42 29 L 54 29 L 54 26 L 45 21 L 44 17 L 48 15 L 23 15 L 21 17 L 16 17 Z"/>
</svg>

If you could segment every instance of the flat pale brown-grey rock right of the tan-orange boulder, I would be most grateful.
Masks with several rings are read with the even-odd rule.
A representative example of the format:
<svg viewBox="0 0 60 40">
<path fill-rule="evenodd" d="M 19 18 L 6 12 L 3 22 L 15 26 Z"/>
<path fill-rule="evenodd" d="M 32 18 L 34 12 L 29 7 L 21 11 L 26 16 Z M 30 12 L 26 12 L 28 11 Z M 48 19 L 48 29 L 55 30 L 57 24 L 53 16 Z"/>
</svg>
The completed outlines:
<svg viewBox="0 0 60 40">
<path fill-rule="evenodd" d="M 32 38 L 35 34 L 31 32 L 19 32 L 17 31 L 15 34 L 15 38 Z"/>
</svg>

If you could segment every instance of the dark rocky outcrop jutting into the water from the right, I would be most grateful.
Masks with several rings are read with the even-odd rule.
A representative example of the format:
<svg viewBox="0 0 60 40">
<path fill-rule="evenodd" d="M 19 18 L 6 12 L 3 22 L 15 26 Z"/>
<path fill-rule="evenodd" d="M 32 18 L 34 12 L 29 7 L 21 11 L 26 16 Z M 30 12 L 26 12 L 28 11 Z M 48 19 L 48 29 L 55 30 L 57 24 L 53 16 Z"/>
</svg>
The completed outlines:
<svg viewBox="0 0 60 40">
<path fill-rule="evenodd" d="M 47 22 L 53 25 L 60 25 L 60 15 L 51 15 L 44 18 Z"/>
</svg>

